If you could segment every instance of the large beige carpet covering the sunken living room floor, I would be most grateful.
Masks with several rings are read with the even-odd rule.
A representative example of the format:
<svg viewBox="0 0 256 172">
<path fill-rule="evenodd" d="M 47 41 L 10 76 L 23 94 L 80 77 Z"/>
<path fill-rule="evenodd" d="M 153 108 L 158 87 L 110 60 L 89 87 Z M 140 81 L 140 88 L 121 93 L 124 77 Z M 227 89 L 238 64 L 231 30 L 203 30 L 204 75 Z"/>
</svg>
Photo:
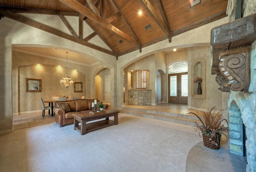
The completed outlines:
<svg viewBox="0 0 256 172">
<path fill-rule="evenodd" d="M 110 118 L 111 119 L 111 118 Z M 48 124 L 0 136 L 1 172 L 185 172 L 191 126 L 119 113 L 86 135 Z"/>
</svg>

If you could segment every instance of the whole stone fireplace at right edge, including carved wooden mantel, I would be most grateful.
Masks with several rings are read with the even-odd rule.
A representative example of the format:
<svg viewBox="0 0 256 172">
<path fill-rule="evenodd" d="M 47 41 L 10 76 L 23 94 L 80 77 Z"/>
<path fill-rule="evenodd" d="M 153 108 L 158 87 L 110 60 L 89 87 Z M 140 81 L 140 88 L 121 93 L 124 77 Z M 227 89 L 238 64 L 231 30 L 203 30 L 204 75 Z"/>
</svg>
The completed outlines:
<svg viewBox="0 0 256 172">
<path fill-rule="evenodd" d="M 212 74 L 228 100 L 230 152 L 256 171 L 256 14 L 212 29 Z M 246 130 L 244 132 L 244 130 Z"/>
</svg>

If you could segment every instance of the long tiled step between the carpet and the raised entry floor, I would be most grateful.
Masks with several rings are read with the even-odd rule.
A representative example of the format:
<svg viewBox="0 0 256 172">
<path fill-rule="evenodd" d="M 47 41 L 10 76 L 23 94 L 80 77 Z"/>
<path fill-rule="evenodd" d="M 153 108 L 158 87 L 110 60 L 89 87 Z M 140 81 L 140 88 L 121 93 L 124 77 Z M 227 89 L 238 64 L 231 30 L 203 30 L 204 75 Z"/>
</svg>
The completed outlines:
<svg viewBox="0 0 256 172">
<path fill-rule="evenodd" d="M 200 122 L 198 118 L 194 115 L 174 114 L 174 113 L 168 113 L 168 112 L 142 110 L 142 109 L 126 108 L 126 107 L 123 107 L 123 109 L 120 110 L 120 112 L 124 114 L 141 116 L 141 117 L 152 118 L 157 120 L 164 120 L 164 121 L 184 124 L 188 126 L 194 126 L 194 122 Z"/>
</svg>

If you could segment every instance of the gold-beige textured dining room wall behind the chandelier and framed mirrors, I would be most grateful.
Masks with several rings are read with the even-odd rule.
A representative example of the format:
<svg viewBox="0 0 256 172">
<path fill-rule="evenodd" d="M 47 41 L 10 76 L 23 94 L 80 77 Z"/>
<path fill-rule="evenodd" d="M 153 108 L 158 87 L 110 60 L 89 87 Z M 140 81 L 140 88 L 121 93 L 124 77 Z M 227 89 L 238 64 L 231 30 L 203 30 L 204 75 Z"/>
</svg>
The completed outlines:
<svg viewBox="0 0 256 172">
<path fill-rule="evenodd" d="M 87 76 L 68 69 L 68 76 L 74 82 L 83 83 L 83 92 L 74 92 L 74 87 L 65 88 L 59 80 L 66 76 L 66 68 L 55 65 L 32 65 L 18 68 L 18 112 L 42 110 L 39 98 L 52 100 L 52 96 L 80 97 L 86 95 Z M 26 92 L 26 78 L 41 79 L 41 92 Z M 47 104 L 46 104 L 47 105 Z M 15 107 L 14 107 L 15 108 Z"/>
</svg>

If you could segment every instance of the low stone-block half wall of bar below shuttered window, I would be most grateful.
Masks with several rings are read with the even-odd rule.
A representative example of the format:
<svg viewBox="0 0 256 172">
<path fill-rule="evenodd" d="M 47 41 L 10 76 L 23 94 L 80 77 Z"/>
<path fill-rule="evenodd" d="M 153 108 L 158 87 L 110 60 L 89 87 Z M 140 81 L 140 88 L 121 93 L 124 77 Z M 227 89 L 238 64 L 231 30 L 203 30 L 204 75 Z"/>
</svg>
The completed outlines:
<svg viewBox="0 0 256 172">
<path fill-rule="evenodd" d="M 151 105 L 151 90 L 128 90 L 128 104 Z"/>
</svg>

